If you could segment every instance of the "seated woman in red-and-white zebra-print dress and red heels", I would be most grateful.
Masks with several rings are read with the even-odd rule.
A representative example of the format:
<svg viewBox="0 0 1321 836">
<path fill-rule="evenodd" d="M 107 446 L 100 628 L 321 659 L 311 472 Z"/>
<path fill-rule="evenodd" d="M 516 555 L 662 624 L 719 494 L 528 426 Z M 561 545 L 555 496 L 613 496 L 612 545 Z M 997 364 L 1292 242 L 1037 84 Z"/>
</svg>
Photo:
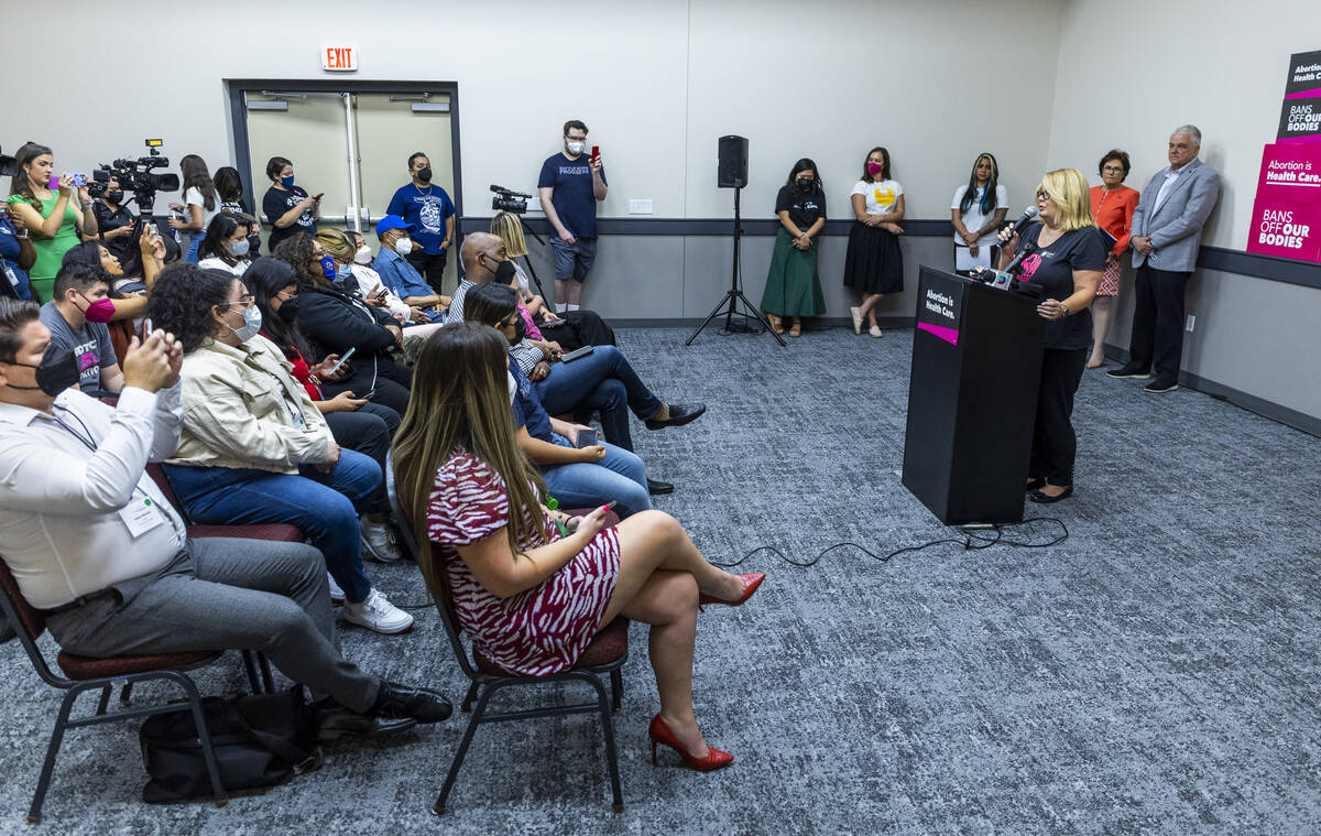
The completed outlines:
<svg viewBox="0 0 1321 836">
<path fill-rule="evenodd" d="M 605 508 L 576 520 L 547 511 L 514 437 L 507 362 L 505 337 L 476 323 L 446 324 L 417 356 L 395 472 L 428 589 L 439 598 L 448 585 L 474 646 L 513 673 L 571 668 L 618 615 L 651 624 L 653 739 L 695 769 L 725 766 L 733 757 L 707 746 L 692 712 L 697 605 L 742 603 L 761 575 L 712 566 L 658 511 L 616 528 Z"/>
</svg>

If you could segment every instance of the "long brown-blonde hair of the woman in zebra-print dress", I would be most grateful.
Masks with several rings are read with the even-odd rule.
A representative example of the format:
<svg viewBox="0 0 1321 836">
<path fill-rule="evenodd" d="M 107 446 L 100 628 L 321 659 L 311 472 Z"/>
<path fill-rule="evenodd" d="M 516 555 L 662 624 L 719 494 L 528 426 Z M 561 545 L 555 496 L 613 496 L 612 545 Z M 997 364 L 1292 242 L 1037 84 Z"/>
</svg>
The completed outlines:
<svg viewBox="0 0 1321 836">
<path fill-rule="evenodd" d="M 444 570 L 427 537 L 427 504 L 436 471 L 456 447 L 470 451 L 499 474 L 509 492 L 510 548 L 524 534 L 539 541 L 540 500 L 546 481 L 523 455 L 514 435 L 506 358 L 509 344 L 490 325 L 448 323 L 417 355 L 408 411 L 395 434 L 394 464 L 399 501 L 412 519 L 417 562 L 433 597 L 443 594 Z M 534 487 L 535 485 L 535 489 Z"/>
</svg>

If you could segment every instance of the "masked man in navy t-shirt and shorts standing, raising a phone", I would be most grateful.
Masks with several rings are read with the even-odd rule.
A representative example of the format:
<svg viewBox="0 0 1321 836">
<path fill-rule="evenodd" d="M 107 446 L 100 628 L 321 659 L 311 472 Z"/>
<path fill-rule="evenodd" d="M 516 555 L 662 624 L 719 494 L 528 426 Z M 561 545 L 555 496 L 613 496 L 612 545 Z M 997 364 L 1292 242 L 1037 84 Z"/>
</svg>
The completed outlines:
<svg viewBox="0 0 1321 836">
<path fill-rule="evenodd" d="M 587 151 L 587 126 L 564 123 L 564 151 L 542 163 L 536 190 L 551 222 L 555 249 L 555 312 L 577 311 L 583 282 L 596 261 L 596 204 L 605 200 L 601 156 Z"/>
</svg>

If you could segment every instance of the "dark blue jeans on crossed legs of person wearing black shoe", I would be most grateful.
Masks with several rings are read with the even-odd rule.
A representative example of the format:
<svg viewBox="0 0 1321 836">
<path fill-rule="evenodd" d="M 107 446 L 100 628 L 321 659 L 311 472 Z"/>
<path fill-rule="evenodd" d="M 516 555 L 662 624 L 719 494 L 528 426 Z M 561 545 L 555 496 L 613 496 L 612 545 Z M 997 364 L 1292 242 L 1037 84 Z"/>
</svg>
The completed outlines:
<svg viewBox="0 0 1321 836">
<path fill-rule="evenodd" d="M 534 386 L 542 406 L 552 415 L 601 410 L 605 440 L 629 451 L 633 437 L 626 410 L 647 419 L 664 406 L 633 370 L 624 352 L 613 345 L 597 345 L 587 357 L 552 365 L 551 373 Z"/>
</svg>

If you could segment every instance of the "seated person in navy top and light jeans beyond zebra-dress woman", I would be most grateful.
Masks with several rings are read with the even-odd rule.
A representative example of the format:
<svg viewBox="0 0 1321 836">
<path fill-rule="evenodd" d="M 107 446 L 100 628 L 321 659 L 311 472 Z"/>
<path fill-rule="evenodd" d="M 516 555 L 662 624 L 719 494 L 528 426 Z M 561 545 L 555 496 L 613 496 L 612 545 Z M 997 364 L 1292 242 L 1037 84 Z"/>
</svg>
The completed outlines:
<svg viewBox="0 0 1321 836">
<path fill-rule="evenodd" d="M 517 339 L 518 316 L 518 291 L 502 284 L 478 284 L 464 306 L 466 321 L 491 325 L 506 340 Z M 651 508 L 647 466 L 637 454 L 596 443 L 592 427 L 551 418 L 517 362 L 509 364 L 509 374 L 518 447 L 542 472 L 561 508 L 594 508 L 616 500 L 621 517 Z M 593 443 L 580 444 L 585 440 L 580 434 L 590 434 Z"/>
</svg>

